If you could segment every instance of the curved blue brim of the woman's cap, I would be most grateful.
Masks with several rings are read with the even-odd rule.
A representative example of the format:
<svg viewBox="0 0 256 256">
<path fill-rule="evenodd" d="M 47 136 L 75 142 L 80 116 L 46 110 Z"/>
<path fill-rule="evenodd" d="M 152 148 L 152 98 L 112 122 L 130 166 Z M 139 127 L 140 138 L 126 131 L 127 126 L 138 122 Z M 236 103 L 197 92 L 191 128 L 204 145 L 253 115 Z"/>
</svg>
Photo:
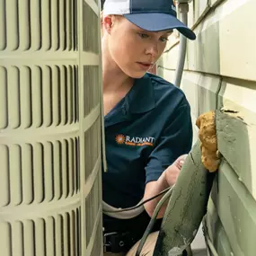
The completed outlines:
<svg viewBox="0 0 256 256">
<path fill-rule="evenodd" d="M 129 22 L 145 31 L 167 31 L 176 29 L 186 38 L 195 40 L 196 35 L 184 23 L 167 13 L 130 13 L 124 14 Z"/>
</svg>

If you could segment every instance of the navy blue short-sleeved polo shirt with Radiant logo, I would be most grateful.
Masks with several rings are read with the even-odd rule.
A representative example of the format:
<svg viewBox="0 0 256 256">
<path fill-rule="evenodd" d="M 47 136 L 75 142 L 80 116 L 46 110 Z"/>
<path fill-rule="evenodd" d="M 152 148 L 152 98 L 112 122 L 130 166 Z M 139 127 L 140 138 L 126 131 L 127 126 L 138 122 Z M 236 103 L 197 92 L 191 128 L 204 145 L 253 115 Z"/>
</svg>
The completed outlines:
<svg viewBox="0 0 256 256">
<path fill-rule="evenodd" d="M 184 93 L 157 75 L 136 79 L 105 116 L 105 143 L 103 200 L 113 207 L 133 207 L 147 182 L 157 181 L 181 154 L 190 152 L 190 105 Z M 103 221 L 110 219 L 104 216 Z"/>
</svg>

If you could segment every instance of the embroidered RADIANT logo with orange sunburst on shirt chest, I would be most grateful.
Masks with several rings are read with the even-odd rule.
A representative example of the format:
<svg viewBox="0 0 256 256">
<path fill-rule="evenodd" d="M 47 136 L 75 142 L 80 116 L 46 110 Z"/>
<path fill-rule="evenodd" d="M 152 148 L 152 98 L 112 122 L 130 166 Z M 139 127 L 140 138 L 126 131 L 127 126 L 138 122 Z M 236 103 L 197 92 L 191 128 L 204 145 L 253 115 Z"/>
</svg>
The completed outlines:
<svg viewBox="0 0 256 256">
<path fill-rule="evenodd" d="M 128 146 L 153 146 L 154 137 L 130 137 L 123 134 L 116 136 L 117 144 L 125 144 Z"/>
</svg>

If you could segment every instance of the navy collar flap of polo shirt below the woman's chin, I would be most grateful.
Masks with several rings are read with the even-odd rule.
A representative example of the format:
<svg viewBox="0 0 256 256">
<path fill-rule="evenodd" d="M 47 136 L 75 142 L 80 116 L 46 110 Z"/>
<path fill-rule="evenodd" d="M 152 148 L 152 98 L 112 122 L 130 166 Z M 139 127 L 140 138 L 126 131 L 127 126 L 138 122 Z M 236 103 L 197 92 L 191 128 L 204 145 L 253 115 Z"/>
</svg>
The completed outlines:
<svg viewBox="0 0 256 256">
<path fill-rule="evenodd" d="M 135 80 L 127 95 L 126 105 L 130 113 L 144 113 L 154 109 L 154 88 L 148 74 Z"/>
</svg>

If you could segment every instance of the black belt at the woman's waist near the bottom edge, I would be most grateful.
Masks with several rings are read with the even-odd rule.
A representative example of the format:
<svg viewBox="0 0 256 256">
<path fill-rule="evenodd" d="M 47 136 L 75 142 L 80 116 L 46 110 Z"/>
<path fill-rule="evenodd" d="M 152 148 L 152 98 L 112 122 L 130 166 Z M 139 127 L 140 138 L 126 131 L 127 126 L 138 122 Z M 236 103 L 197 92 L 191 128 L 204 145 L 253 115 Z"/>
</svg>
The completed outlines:
<svg viewBox="0 0 256 256">
<path fill-rule="evenodd" d="M 128 252 L 137 240 L 137 235 L 129 232 L 104 233 L 104 253 Z"/>
</svg>

